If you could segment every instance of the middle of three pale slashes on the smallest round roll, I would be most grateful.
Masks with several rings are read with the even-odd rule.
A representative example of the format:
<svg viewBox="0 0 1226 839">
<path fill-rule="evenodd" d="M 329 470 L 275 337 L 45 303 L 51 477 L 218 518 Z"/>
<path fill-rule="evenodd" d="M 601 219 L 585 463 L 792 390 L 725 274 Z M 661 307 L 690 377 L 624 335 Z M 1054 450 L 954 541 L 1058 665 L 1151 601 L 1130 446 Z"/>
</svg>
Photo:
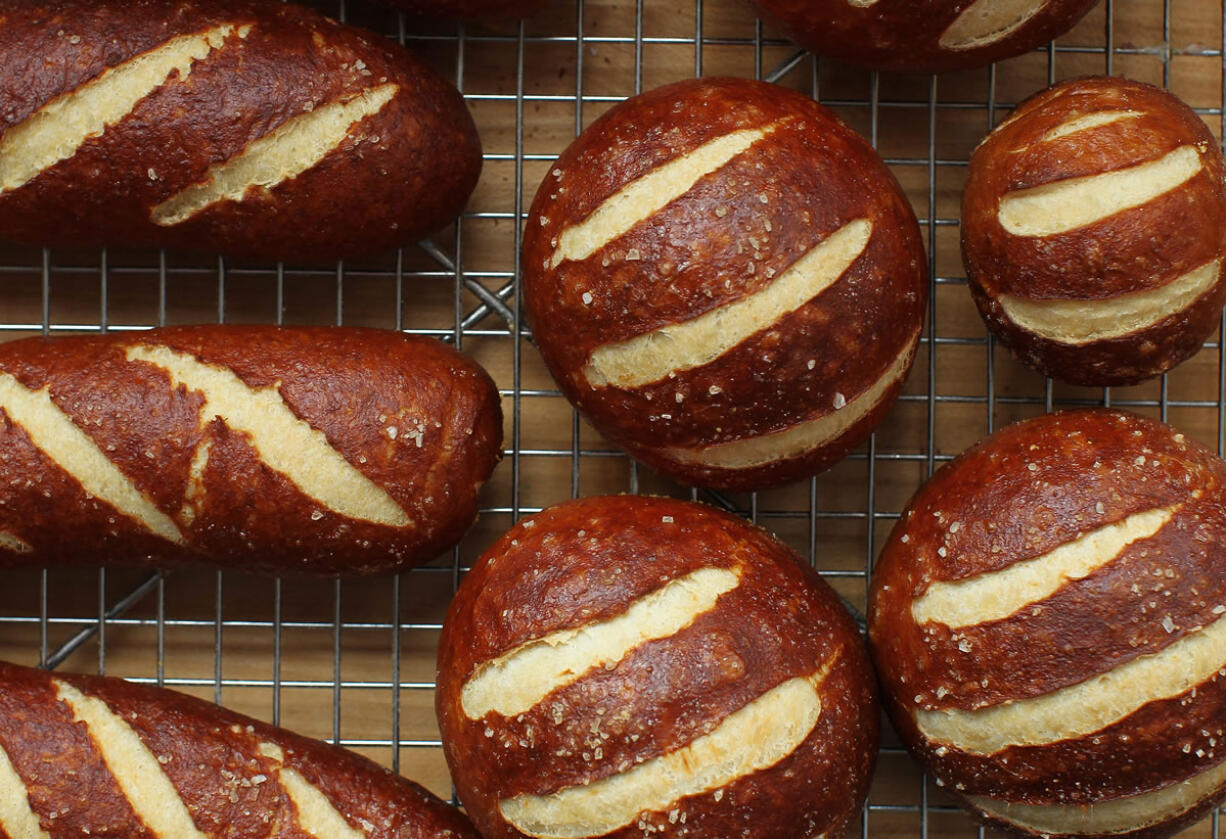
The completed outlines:
<svg viewBox="0 0 1226 839">
<path fill-rule="evenodd" d="M 1084 178 L 1018 189 L 1000 199 L 997 218 L 1014 236 L 1054 236 L 1139 207 L 1190 180 L 1200 169 L 1195 146 L 1154 161 Z"/>
</svg>

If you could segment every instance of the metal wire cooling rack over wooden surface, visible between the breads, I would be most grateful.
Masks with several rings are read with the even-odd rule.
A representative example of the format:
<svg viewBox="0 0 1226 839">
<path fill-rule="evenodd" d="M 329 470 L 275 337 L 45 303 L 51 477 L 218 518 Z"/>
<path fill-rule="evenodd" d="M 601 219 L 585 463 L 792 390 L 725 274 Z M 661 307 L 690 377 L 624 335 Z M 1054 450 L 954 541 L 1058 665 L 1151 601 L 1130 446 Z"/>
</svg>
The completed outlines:
<svg viewBox="0 0 1226 839">
<path fill-rule="evenodd" d="M 262 579 L 207 569 L 6 574 L 0 656 L 164 683 L 340 742 L 447 795 L 433 719 L 434 648 L 463 570 L 511 521 L 573 496 L 652 492 L 732 509 L 775 531 L 862 611 L 878 546 L 924 477 L 993 428 L 1070 405 L 1167 420 L 1222 450 L 1221 331 L 1162 380 L 1065 388 L 996 348 L 958 250 L 966 159 L 1051 81 L 1114 72 L 1165 85 L 1226 128 L 1224 6 L 1106 0 L 1056 44 L 940 77 L 877 75 L 798 52 L 738 0 L 554 0 L 526 22 L 422 26 L 364 0 L 324 11 L 375 28 L 454 75 L 485 145 L 468 211 L 417 248 L 315 266 L 142 251 L 0 247 L 0 340 L 166 323 L 337 323 L 432 335 L 499 383 L 506 458 L 482 516 L 436 562 L 396 578 Z M 832 107 L 881 152 L 929 248 L 932 304 L 905 394 L 830 472 L 753 494 L 695 492 L 640 470 L 562 399 L 531 346 L 514 278 L 520 226 L 553 157 L 612 103 L 693 75 L 767 79 Z M 859 826 L 872 837 L 983 835 L 886 734 Z M 1188 835 L 1219 835 L 1217 814 Z"/>
</svg>

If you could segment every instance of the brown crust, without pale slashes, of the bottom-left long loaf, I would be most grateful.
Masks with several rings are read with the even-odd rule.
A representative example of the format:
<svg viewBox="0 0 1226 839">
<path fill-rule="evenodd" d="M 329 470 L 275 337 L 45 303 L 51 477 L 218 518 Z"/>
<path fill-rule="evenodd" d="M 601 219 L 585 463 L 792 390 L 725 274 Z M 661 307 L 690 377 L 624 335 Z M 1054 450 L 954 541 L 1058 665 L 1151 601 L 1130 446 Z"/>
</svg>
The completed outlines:
<svg viewBox="0 0 1226 839">
<path fill-rule="evenodd" d="M 56 698 L 53 678 L 123 716 L 159 758 L 205 835 L 314 835 L 298 824 L 297 808 L 277 778 L 278 763 L 260 751 L 261 743 L 273 743 L 284 752 L 283 765 L 321 791 L 369 839 L 478 839 L 457 810 L 352 752 L 173 691 L 0 662 L 0 748 L 26 783 L 31 810 L 51 839 L 153 835 L 107 768 L 89 730 Z"/>
</svg>

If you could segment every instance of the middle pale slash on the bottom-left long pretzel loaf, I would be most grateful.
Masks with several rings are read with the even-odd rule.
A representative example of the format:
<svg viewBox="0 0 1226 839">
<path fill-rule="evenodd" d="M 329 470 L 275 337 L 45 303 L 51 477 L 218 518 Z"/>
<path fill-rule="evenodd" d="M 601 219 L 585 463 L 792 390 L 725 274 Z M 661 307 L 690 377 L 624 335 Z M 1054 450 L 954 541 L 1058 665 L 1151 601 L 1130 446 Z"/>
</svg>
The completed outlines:
<svg viewBox="0 0 1226 839">
<path fill-rule="evenodd" d="M 206 839 L 196 829 L 174 784 L 162 772 L 157 757 L 128 722 L 107 703 L 66 682 L 54 681 L 60 702 L 85 722 L 107 769 L 131 805 L 136 817 L 162 839 Z"/>
</svg>

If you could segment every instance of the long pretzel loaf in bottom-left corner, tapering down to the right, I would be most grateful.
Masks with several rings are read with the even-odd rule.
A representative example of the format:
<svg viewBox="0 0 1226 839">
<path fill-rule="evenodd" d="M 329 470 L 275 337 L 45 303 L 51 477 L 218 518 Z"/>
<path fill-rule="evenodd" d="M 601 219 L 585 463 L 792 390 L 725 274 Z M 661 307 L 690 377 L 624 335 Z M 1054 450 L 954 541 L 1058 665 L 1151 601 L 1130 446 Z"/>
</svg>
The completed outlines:
<svg viewBox="0 0 1226 839">
<path fill-rule="evenodd" d="M 478 839 L 367 758 L 173 691 L 0 662 L 0 835 Z"/>
</svg>

